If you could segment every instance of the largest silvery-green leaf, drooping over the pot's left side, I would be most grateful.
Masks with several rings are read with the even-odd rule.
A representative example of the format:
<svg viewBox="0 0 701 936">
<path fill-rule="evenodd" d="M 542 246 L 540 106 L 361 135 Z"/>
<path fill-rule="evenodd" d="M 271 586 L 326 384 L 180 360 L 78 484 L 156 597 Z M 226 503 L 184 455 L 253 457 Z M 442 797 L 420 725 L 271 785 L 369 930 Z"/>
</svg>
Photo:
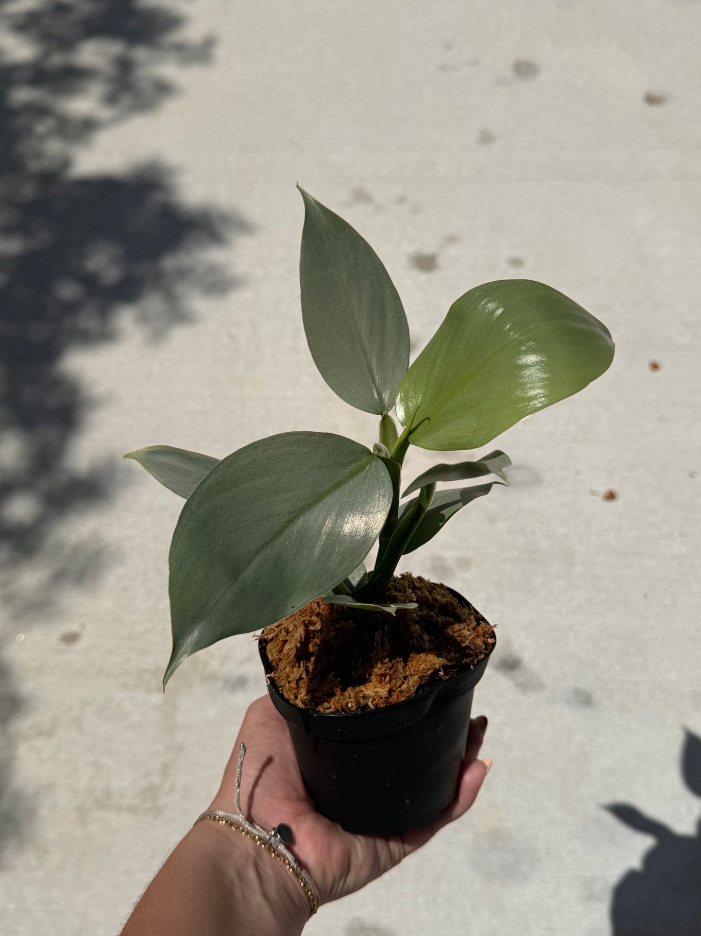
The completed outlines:
<svg viewBox="0 0 701 936">
<path fill-rule="evenodd" d="M 363 561 L 392 501 L 387 469 L 327 432 L 284 432 L 222 459 L 180 513 L 170 547 L 173 652 L 265 627 Z"/>
</svg>

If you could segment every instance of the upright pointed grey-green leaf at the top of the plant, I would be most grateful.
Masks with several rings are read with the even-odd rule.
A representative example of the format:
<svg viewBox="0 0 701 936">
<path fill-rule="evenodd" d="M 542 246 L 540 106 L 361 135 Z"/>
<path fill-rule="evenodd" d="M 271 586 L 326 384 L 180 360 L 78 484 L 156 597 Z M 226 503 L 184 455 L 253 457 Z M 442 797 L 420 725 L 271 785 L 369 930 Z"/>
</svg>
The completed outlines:
<svg viewBox="0 0 701 936">
<path fill-rule="evenodd" d="M 314 363 L 341 398 L 380 416 L 408 368 L 409 335 L 389 274 L 342 218 L 300 188 L 302 317 Z"/>
</svg>

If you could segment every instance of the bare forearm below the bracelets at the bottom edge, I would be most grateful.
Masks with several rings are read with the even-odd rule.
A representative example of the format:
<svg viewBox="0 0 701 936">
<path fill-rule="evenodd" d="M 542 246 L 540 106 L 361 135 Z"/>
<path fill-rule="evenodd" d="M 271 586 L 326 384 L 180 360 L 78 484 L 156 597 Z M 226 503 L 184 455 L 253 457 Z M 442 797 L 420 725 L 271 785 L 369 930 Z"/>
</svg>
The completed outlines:
<svg viewBox="0 0 701 936">
<path fill-rule="evenodd" d="M 308 914 L 302 888 L 275 858 L 205 821 L 179 842 L 122 936 L 299 936 Z"/>
</svg>

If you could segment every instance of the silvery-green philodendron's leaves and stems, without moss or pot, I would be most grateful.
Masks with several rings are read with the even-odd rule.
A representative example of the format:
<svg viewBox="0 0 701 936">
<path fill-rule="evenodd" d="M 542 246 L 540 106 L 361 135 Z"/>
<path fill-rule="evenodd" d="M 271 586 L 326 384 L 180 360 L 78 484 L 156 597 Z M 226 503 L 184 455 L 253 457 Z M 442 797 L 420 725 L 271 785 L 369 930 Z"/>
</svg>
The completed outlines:
<svg viewBox="0 0 701 936">
<path fill-rule="evenodd" d="M 221 461 L 171 446 L 126 456 L 185 498 L 170 547 L 173 651 L 164 685 L 195 651 L 320 596 L 392 614 L 415 607 L 387 602 L 401 556 L 494 484 L 506 484 L 510 461 L 497 450 L 436 464 L 403 491 L 408 446 L 485 446 L 586 387 L 613 359 L 608 329 L 576 302 L 533 280 L 497 280 L 455 300 L 409 367 L 407 318 L 379 257 L 300 192 L 309 350 L 342 400 L 379 417 L 379 441 L 368 448 L 330 432 L 282 432 Z M 436 490 L 476 478 L 485 480 Z M 378 539 L 368 573 L 364 560 Z"/>
</svg>

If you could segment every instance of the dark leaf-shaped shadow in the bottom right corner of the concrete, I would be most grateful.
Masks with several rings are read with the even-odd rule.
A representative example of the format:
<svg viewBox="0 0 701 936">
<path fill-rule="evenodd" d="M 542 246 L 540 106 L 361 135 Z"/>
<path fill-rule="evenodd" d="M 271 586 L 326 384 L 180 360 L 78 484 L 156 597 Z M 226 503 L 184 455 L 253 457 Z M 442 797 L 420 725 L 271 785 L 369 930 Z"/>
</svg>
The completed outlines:
<svg viewBox="0 0 701 936">
<path fill-rule="evenodd" d="M 681 776 L 701 797 L 701 738 L 686 732 Z M 698 936 L 701 933 L 701 819 L 696 835 L 679 835 L 635 806 L 607 806 L 625 826 L 649 835 L 655 844 L 642 870 L 628 871 L 611 902 L 614 936 Z"/>
</svg>

